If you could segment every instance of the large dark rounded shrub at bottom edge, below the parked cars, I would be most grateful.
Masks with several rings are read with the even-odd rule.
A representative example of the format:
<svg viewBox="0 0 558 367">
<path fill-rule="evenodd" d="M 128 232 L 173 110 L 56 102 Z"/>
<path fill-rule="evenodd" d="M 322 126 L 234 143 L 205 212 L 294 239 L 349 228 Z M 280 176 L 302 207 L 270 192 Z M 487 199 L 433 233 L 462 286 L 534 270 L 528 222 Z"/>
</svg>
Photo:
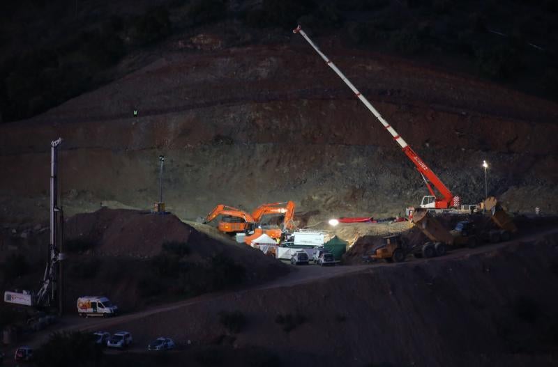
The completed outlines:
<svg viewBox="0 0 558 367">
<path fill-rule="evenodd" d="M 98 366 L 102 358 L 100 345 L 91 334 L 81 331 L 52 334 L 35 354 L 38 367 Z"/>
</svg>

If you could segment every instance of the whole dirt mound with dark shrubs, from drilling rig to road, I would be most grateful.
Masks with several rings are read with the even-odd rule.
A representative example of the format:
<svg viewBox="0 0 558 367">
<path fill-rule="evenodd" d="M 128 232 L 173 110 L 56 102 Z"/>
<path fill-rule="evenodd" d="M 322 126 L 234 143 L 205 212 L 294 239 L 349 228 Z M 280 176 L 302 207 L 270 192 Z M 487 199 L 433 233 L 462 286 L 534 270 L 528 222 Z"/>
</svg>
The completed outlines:
<svg viewBox="0 0 558 367">
<path fill-rule="evenodd" d="M 193 228 L 173 214 L 103 208 L 66 222 L 66 307 L 103 294 L 121 309 L 141 309 L 268 281 L 287 265 L 262 251 Z"/>
</svg>

